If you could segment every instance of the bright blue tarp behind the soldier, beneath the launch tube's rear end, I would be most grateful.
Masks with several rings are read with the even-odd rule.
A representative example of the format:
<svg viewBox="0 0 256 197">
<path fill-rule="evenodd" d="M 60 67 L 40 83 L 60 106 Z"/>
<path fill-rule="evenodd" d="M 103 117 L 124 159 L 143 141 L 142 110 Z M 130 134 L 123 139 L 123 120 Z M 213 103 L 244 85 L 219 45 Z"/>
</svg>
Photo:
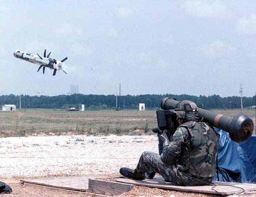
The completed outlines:
<svg viewBox="0 0 256 197">
<path fill-rule="evenodd" d="M 219 180 L 256 183 L 256 136 L 244 143 L 233 142 L 229 134 L 215 128 L 220 134 L 218 147 Z M 217 173 L 214 180 L 217 180 Z"/>
</svg>

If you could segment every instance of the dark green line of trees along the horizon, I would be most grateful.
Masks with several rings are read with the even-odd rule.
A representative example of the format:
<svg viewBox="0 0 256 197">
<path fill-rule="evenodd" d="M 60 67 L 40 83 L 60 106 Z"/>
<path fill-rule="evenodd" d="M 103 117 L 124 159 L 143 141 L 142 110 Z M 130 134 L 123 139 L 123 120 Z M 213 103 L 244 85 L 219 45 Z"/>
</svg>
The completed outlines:
<svg viewBox="0 0 256 197">
<path fill-rule="evenodd" d="M 144 94 L 144 95 L 122 95 L 118 96 L 118 107 L 122 109 L 138 109 L 139 103 L 145 103 L 146 109 L 160 108 L 163 98 L 172 97 L 178 100 L 191 100 L 198 106 L 208 109 L 234 109 L 241 108 L 241 98 L 238 96 L 220 97 L 211 96 L 193 96 L 193 95 L 174 95 L 174 94 Z M 243 97 L 243 107 L 255 105 L 256 99 L 253 97 Z M 19 107 L 19 95 L 1 95 L 0 106 L 4 104 L 13 104 Z M 116 95 L 57 95 L 57 96 L 30 96 L 21 95 L 22 108 L 69 108 L 84 104 L 86 110 L 102 110 L 116 108 Z"/>
</svg>

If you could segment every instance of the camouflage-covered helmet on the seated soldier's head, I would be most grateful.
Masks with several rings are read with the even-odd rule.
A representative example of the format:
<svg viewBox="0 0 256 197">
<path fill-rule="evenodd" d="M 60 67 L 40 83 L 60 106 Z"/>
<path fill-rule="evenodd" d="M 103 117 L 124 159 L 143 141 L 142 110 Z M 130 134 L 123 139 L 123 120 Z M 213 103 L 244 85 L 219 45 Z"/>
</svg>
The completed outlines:
<svg viewBox="0 0 256 197">
<path fill-rule="evenodd" d="M 198 108 L 196 103 L 190 100 L 183 100 L 177 103 L 174 113 L 177 114 L 178 118 L 191 118 L 193 116 L 198 116 Z"/>
</svg>

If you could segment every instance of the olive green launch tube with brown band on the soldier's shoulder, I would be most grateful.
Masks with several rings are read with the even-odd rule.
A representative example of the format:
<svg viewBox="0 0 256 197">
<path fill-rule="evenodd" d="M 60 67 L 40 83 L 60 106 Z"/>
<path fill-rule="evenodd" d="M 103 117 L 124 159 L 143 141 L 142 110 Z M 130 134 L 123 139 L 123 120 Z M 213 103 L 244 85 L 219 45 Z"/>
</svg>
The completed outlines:
<svg viewBox="0 0 256 197">
<path fill-rule="evenodd" d="M 161 108 L 172 110 L 178 102 L 180 101 L 173 98 L 164 98 L 161 102 Z M 235 142 L 245 142 L 253 134 L 253 121 L 244 113 L 230 117 L 198 107 L 198 114 L 203 116 L 204 122 L 228 132 L 230 138 Z"/>
</svg>

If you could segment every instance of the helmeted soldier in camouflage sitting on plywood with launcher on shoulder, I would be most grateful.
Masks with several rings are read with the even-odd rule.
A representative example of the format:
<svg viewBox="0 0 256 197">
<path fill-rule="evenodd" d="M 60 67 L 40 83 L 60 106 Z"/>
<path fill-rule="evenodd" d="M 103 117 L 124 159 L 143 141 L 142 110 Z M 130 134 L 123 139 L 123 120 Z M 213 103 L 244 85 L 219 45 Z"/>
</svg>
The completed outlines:
<svg viewBox="0 0 256 197">
<path fill-rule="evenodd" d="M 158 135 L 162 154 L 143 152 L 135 170 L 120 168 L 127 178 L 145 179 L 151 169 L 176 185 L 198 186 L 212 182 L 216 171 L 219 134 L 198 117 L 198 108 L 191 101 L 177 103 L 174 112 L 179 127 L 169 141 L 166 132 Z M 153 178 L 153 177 L 151 177 Z"/>
</svg>

